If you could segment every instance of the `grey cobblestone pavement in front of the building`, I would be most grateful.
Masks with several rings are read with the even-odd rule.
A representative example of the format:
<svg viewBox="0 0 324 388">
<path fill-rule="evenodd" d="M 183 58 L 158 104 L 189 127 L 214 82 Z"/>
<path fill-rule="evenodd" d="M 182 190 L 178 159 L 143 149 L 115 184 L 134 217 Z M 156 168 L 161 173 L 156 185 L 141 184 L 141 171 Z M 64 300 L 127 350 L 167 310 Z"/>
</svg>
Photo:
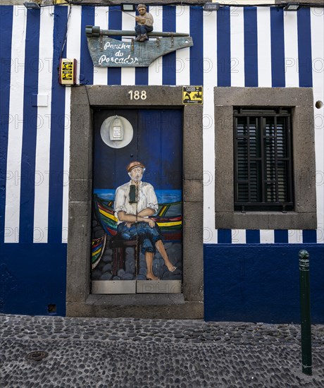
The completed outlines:
<svg viewBox="0 0 324 388">
<path fill-rule="evenodd" d="M 299 325 L 0 315 L 0 327 L 1 388 L 324 387 L 324 325 L 313 376 Z"/>
</svg>

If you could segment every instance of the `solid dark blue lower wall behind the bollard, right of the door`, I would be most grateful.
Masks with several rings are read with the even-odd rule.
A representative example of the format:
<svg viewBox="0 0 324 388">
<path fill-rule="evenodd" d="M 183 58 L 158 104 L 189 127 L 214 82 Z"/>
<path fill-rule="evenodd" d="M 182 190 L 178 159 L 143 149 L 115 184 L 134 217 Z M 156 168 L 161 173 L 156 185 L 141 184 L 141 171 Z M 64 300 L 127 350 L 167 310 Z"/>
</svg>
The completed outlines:
<svg viewBox="0 0 324 388">
<path fill-rule="evenodd" d="M 299 322 L 299 250 L 310 254 L 311 315 L 324 322 L 321 245 L 204 245 L 205 319 Z"/>
</svg>

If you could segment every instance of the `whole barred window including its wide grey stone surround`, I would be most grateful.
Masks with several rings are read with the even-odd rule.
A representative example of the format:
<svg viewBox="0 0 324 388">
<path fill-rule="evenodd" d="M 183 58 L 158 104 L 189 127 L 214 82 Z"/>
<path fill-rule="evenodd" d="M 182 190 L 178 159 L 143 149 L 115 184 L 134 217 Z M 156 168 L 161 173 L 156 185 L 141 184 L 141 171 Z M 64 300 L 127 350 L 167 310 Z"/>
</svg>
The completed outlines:
<svg viewBox="0 0 324 388">
<path fill-rule="evenodd" d="M 313 90 L 215 87 L 214 103 L 216 229 L 316 229 Z"/>
</svg>

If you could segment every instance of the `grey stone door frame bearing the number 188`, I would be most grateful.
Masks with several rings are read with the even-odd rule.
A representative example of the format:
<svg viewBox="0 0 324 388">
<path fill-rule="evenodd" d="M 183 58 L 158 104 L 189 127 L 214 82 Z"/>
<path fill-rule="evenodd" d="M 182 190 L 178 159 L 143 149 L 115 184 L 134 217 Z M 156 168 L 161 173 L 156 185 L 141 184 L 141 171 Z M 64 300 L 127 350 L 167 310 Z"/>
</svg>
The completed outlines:
<svg viewBox="0 0 324 388">
<path fill-rule="evenodd" d="M 139 96 L 134 99 L 135 91 Z M 130 93 L 132 91 L 132 94 Z M 143 92 L 143 93 L 142 93 Z M 130 97 L 133 99 L 130 99 Z M 182 293 L 93 295 L 90 279 L 94 109 L 182 109 Z M 203 107 L 177 86 L 81 86 L 71 90 L 66 315 L 195 319 L 203 305 Z"/>
</svg>

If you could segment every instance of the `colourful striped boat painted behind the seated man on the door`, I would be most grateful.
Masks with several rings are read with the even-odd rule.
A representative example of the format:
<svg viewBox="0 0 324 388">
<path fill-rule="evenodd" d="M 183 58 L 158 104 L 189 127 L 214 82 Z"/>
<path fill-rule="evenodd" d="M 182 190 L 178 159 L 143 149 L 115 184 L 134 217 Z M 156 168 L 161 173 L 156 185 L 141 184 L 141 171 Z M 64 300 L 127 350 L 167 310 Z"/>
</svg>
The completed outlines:
<svg viewBox="0 0 324 388">
<path fill-rule="evenodd" d="M 113 200 L 104 200 L 94 194 L 94 212 L 104 231 L 109 236 L 116 236 L 117 222 L 113 211 Z M 182 239 L 182 202 L 163 203 L 151 217 L 161 229 L 163 239 L 181 241 Z"/>
</svg>

